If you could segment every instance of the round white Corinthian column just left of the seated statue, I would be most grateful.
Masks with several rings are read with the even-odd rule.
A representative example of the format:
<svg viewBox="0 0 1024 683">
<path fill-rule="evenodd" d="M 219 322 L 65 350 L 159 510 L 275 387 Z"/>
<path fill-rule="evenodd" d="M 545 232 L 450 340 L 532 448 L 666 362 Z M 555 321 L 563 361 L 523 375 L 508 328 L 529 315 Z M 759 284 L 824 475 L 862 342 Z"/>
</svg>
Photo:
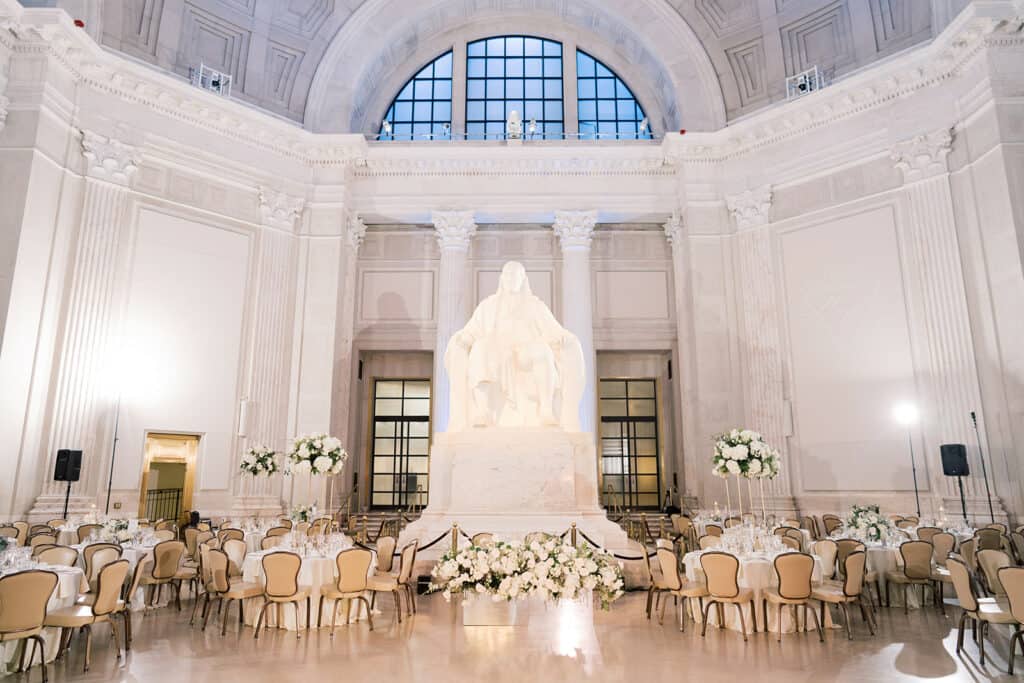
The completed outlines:
<svg viewBox="0 0 1024 683">
<path fill-rule="evenodd" d="M 434 431 L 447 430 L 451 388 L 444 370 L 449 339 L 465 327 L 472 313 L 469 282 L 469 246 L 476 233 L 472 211 L 437 211 L 432 217 L 441 250 L 437 285 L 437 340 L 434 345 L 432 416 Z"/>
</svg>

